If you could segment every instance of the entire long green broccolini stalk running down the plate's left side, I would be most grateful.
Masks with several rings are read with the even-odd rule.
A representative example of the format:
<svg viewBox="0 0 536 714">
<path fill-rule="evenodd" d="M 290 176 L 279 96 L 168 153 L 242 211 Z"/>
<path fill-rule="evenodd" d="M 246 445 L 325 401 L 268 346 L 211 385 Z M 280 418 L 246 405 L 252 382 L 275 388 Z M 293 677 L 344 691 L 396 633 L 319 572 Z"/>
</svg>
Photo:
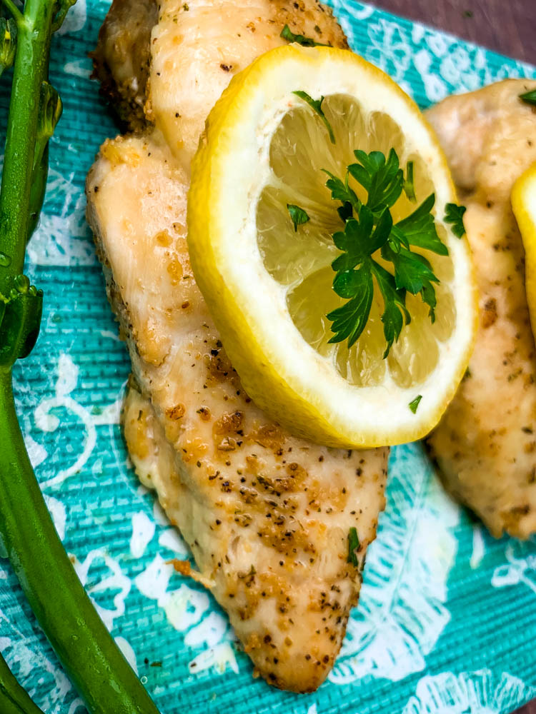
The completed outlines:
<svg viewBox="0 0 536 714">
<path fill-rule="evenodd" d="M 14 0 L 2 1 L 12 18 L 0 24 L 0 66 L 3 71 L 14 61 L 14 76 L 0 190 L 0 540 L 89 712 L 159 714 L 61 545 L 16 416 L 11 370 L 34 346 L 43 301 L 23 274 L 24 253 L 43 201 L 48 142 L 61 114 L 48 83 L 50 41 L 74 0 L 26 0 L 22 9 Z M 0 693 L 2 688 L 14 697 L 14 682 L 0 663 Z M 4 712 L 1 699 L 0 705 Z"/>
</svg>

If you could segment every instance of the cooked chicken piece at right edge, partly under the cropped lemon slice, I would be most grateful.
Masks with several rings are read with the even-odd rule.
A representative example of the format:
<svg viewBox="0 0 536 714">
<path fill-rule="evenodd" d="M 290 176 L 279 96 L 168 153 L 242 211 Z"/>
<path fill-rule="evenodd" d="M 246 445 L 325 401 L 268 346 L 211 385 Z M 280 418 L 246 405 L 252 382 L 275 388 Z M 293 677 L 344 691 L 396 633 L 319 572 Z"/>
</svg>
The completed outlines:
<svg viewBox="0 0 536 714">
<path fill-rule="evenodd" d="M 497 537 L 536 532 L 536 354 L 510 206 L 515 179 L 536 161 L 536 112 L 519 99 L 534 86 L 503 81 L 427 113 L 467 206 L 480 288 L 475 352 L 428 443 L 449 491 Z"/>
</svg>

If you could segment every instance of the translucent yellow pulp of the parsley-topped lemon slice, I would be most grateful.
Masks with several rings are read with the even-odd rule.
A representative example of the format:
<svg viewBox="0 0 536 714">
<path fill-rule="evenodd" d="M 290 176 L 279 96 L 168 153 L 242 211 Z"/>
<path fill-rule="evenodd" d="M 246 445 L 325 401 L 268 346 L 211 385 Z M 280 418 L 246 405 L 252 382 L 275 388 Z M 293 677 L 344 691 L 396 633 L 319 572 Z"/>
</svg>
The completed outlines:
<svg viewBox="0 0 536 714">
<path fill-rule="evenodd" d="M 322 169 L 344 179 L 347 166 L 355 161 L 354 149 L 382 151 L 385 156 L 394 149 L 402 167 L 413 161 L 417 203 L 411 203 L 402 192 L 391 209 L 395 223 L 433 192 L 432 180 L 422 158 L 407 154 L 402 131 L 387 114 L 367 114 L 356 99 L 340 94 L 327 96 L 322 110 L 337 137 L 336 144 L 329 142 L 324 124 L 306 104 L 288 111 L 272 136 L 269 178 L 257 203 L 257 245 L 264 268 L 286 289 L 289 315 L 304 340 L 332 361 L 349 383 L 376 386 L 390 377 L 399 387 L 418 388 L 437 366 L 439 343 L 448 341 L 455 328 L 456 306 L 449 285 L 454 275 L 452 259 L 412 248 L 426 256 L 440 278 L 436 319 L 431 323 L 428 306 L 420 296 L 408 293 L 406 304 L 412 321 L 402 329 L 386 359 L 381 321 L 384 303 L 376 284 L 369 321 L 359 340 L 350 349 L 346 341 L 330 344 L 333 333 L 326 316 L 344 303 L 332 289 L 331 263 L 339 254 L 332 234 L 343 226 L 336 210 L 340 204 L 332 201 Z M 364 188 L 352 177 L 349 183 L 359 198 L 366 200 Z M 310 218 L 297 231 L 289 217 L 288 203 L 303 208 Z M 440 224 L 436 227 L 442 237 L 445 229 Z M 392 272 L 379 252 L 374 258 Z"/>
</svg>

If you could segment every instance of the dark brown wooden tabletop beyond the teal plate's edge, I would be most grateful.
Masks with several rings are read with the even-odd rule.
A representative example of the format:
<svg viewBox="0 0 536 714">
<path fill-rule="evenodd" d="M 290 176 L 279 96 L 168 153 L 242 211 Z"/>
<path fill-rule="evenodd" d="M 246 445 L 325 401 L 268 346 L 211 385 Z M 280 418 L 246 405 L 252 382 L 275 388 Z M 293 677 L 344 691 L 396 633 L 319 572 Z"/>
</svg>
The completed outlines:
<svg viewBox="0 0 536 714">
<path fill-rule="evenodd" d="M 536 0 L 374 0 L 374 4 L 536 64 Z M 515 714 L 536 714 L 536 699 Z"/>
</svg>

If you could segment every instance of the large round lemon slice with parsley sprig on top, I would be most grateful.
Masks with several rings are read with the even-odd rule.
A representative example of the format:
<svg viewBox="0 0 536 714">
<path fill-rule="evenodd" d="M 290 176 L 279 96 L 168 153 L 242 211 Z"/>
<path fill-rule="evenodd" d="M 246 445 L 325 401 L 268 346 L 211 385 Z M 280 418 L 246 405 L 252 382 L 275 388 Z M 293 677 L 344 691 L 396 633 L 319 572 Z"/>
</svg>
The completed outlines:
<svg viewBox="0 0 536 714">
<path fill-rule="evenodd" d="M 334 144 L 294 91 L 325 98 Z M 354 149 L 387 156 L 391 148 L 401 166 L 414 162 L 418 203 L 435 192 L 449 256 L 420 251 L 441 281 L 437 318 L 432 325 L 420 296 L 408 295 L 412 322 L 384 359 L 377 286 L 357 343 L 329 343 L 326 316 L 342 303 L 332 289 L 339 254 L 332 234 L 342 224 L 322 169 L 344 177 Z M 411 441 L 435 426 L 467 366 L 476 321 L 467 241 L 443 220 L 456 200 L 417 106 L 351 52 L 285 46 L 234 77 L 192 164 L 188 243 L 224 348 L 264 411 L 297 436 L 345 448 Z M 297 230 L 289 205 L 309 216 Z M 402 193 L 392 215 L 397 221 L 413 210 Z"/>
</svg>

